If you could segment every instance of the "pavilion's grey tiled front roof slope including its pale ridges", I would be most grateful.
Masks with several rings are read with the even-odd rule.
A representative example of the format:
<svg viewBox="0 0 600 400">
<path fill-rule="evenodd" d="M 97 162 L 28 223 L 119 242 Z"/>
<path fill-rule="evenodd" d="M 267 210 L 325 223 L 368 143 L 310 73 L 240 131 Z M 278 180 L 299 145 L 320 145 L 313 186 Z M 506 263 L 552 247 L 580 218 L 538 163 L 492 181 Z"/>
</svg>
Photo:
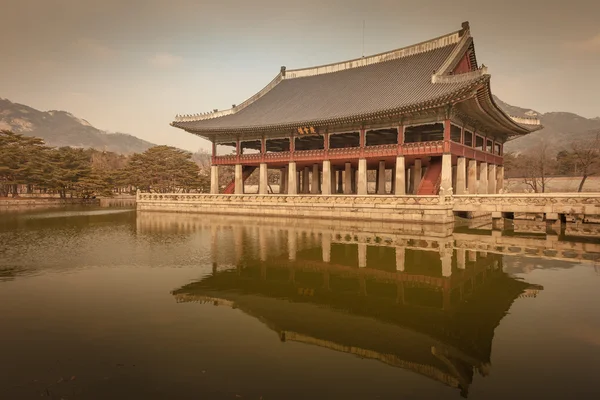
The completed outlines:
<svg viewBox="0 0 600 400">
<path fill-rule="evenodd" d="M 305 70 L 282 69 L 240 106 L 179 117 L 172 125 L 197 133 L 318 125 L 447 101 L 489 79 L 477 72 L 452 77 L 459 79 L 432 79 L 436 71 L 446 73 L 471 43 L 468 25 L 463 25 L 461 31 L 376 56 Z"/>
</svg>

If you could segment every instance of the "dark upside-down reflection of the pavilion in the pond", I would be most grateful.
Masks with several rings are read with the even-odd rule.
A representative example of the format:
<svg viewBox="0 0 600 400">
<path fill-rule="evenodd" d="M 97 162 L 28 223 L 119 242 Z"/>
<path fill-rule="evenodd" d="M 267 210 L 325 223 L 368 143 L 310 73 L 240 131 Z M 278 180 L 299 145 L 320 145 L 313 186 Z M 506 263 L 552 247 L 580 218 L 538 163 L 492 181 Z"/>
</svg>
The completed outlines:
<svg viewBox="0 0 600 400">
<path fill-rule="evenodd" d="M 248 232 L 234 227 L 235 261 L 224 263 L 233 268 L 215 257 L 213 274 L 175 290 L 177 301 L 239 308 L 281 340 L 376 359 L 463 395 L 475 371 L 488 373 L 494 330 L 512 302 L 539 290 L 506 275 L 501 255 L 440 242 L 426 251 L 293 229 Z"/>
</svg>

